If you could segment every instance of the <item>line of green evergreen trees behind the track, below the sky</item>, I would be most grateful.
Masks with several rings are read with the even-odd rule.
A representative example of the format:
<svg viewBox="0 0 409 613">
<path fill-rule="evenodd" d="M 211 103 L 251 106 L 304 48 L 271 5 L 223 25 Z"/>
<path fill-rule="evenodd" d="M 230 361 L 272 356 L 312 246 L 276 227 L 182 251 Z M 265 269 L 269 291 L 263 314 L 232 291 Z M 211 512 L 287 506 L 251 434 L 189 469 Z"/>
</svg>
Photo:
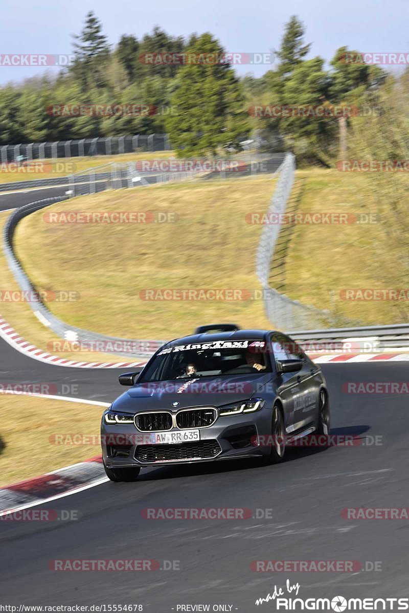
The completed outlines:
<svg viewBox="0 0 409 613">
<path fill-rule="evenodd" d="M 277 109 L 343 105 L 381 113 L 374 102 L 393 81 L 378 66 L 346 62 L 346 54 L 357 55 L 347 47 L 327 67 L 323 58 L 307 59 L 311 45 L 296 16 L 285 25 L 273 68 L 260 78 L 239 78 L 228 60 L 161 61 L 166 53 L 223 57 L 224 48 L 208 32 L 185 39 L 156 27 L 140 40 L 124 34 L 112 47 L 93 12 L 73 47 L 72 65 L 56 77 L 0 88 L 0 144 L 169 132 L 177 153 L 191 156 L 240 150 L 243 140 L 255 136 L 266 149 L 292 150 L 305 162 L 331 165 L 350 116 L 286 115 Z M 109 110 L 132 104 L 144 106 L 140 112 Z M 64 105 L 100 105 L 105 112 L 52 110 Z"/>
</svg>

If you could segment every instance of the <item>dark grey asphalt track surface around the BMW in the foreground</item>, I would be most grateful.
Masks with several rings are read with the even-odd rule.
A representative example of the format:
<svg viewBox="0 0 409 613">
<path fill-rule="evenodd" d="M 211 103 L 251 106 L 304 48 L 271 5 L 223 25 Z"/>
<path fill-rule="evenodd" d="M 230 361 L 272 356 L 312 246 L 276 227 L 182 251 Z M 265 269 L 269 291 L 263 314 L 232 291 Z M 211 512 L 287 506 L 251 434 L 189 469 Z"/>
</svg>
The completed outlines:
<svg viewBox="0 0 409 613">
<path fill-rule="evenodd" d="M 79 397 L 109 402 L 119 370 L 42 364 L 0 342 L 7 381 L 77 383 Z M 0 593 L 10 604 L 143 604 L 164 613 L 179 604 L 227 604 L 243 613 L 275 610 L 256 598 L 299 582 L 299 596 L 405 596 L 405 520 L 347 520 L 345 507 L 407 506 L 407 399 L 351 395 L 346 381 L 405 381 L 408 365 L 323 365 L 332 433 L 360 434 L 381 445 L 293 449 L 277 466 L 259 460 L 145 469 L 136 483 L 104 483 L 37 509 L 76 509 L 70 522 L 0 522 Z M 122 388 L 123 389 L 123 388 Z M 47 401 L 45 401 L 47 402 Z M 6 406 L 7 398 L 2 402 Z M 4 415 L 4 413 L 3 413 Z M 69 424 L 69 411 L 67 411 Z M 74 431 L 69 424 L 67 431 Z M 24 441 L 21 441 L 24 444 Z M 94 455 L 95 449 L 89 455 Z M 58 468 L 56 466 L 56 468 Z M 148 520 L 143 508 L 272 509 L 268 519 Z M 175 561 L 177 570 L 51 571 L 54 559 Z M 381 562 L 381 571 L 254 573 L 254 560 Z M 181 610 L 181 609 L 179 609 Z M 186 610 L 186 609 L 185 609 Z M 189 610 L 189 609 L 188 609 Z M 190 609 L 194 610 L 194 609 Z M 212 609 L 210 609 L 212 610 Z M 227 608 L 226 611 L 229 611 Z"/>
</svg>

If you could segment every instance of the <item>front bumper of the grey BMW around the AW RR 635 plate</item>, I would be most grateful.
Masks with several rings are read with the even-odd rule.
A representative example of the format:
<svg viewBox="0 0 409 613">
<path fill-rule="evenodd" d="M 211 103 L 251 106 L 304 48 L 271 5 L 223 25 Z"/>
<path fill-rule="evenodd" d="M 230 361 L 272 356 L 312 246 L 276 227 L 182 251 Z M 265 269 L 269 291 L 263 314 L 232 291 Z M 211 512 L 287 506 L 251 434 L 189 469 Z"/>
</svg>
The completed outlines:
<svg viewBox="0 0 409 613">
<path fill-rule="evenodd" d="M 102 457 L 109 468 L 126 468 L 268 455 L 270 449 L 258 444 L 258 435 L 271 432 L 271 423 L 272 409 L 267 406 L 255 413 L 218 417 L 210 427 L 198 428 L 201 440 L 194 446 L 193 443 L 149 445 L 142 443 L 144 436 L 147 440 L 148 433 L 139 432 L 133 424 L 108 425 L 102 422 Z M 170 432 L 183 430 L 172 428 Z M 165 448 L 163 453 L 159 447 Z M 155 456 L 162 459 L 154 459 Z"/>
</svg>

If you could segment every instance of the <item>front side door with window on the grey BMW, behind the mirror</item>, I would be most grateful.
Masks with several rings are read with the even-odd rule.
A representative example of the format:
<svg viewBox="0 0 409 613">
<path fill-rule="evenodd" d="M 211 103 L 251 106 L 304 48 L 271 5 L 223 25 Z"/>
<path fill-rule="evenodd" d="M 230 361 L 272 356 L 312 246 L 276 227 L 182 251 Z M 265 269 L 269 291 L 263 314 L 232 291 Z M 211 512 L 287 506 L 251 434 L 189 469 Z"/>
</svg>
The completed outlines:
<svg viewBox="0 0 409 613">
<path fill-rule="evenodd" d="M 273 332 L 270 336 L 270 343 L 277 377 L 277 394 L 280 396 L 284 408 L 286 434 L 291 434 L 297 429 L 297 405 L 301 393 L 299 373 L 280 373 L 278 371 L 277 362 L 286 362 L 290 359 L 286 348 L 288 338 L 281 332 Z"/>
</svg>

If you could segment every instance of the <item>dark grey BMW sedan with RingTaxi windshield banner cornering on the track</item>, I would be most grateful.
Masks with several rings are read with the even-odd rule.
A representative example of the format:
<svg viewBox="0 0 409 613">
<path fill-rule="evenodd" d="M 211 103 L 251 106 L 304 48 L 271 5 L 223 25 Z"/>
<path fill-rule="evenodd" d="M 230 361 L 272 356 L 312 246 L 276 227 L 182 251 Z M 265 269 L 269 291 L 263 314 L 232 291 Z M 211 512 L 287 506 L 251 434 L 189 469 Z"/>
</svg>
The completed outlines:
<svg viewBox="0 0 409 613">
<path fill-rule="evenodd" d="M 130 389 L 101 424 L 111 481 L 134 481 L 143 466 L 257 456 L 281 462 L 286 444 L 329 434 L 323 373 L 281 332 L 202 326 L 119 381 Z"/>
</svg>

